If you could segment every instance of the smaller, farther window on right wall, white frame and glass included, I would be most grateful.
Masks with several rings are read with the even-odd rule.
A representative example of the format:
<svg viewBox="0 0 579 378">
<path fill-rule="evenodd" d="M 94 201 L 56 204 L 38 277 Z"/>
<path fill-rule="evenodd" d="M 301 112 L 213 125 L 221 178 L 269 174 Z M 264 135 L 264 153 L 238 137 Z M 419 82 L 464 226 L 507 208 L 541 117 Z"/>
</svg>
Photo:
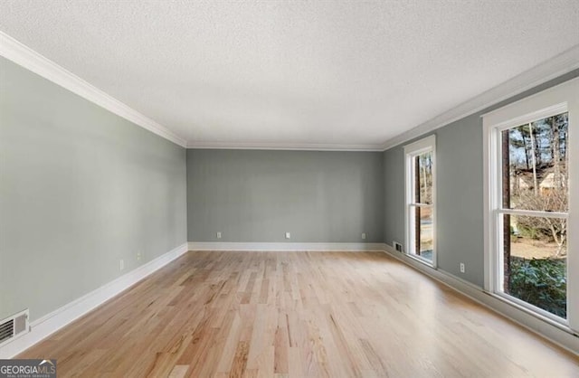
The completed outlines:
<svg viewBox="0 0 579 378">
<path fill-rule="evenodd" d="M 406 253 L 436 265 L 434 238 L 435 137 L 404 146 L 406 155 Z"/>
</svg>

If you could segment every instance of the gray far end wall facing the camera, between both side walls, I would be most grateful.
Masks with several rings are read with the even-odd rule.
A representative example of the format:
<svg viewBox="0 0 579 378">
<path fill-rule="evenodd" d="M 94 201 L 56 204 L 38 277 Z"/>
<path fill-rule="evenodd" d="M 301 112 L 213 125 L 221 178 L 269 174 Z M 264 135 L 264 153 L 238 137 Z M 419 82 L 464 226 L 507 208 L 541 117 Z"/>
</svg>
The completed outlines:
<svg viewBox="0 0 579 378">
<path fill-rule="evenodd" d="M 187 150 L 189 241 L 381 242 L 375 152 Z"/>
</svg>

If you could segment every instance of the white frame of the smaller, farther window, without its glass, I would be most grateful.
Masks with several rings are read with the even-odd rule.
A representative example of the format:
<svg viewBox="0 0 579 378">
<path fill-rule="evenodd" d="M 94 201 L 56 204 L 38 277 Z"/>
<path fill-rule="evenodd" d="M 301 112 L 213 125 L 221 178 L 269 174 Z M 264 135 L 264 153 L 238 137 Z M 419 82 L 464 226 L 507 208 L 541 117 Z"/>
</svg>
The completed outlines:
<svg viewBox="0 0 579 378">
<path fill-rule="evenodd" d="M 419 156 L 425 152 L 431 152 L 432 154 L 432 204 L 424 203 L 414 203 L 414 191 L 413 191 L 413 180 L 414 180 L 414 157 Z M 416 142 L 404 146 L 404 175 L 405 175 L 405 201 L 404 201 L 404 213 L 405 213 L 405 235 L 406 235 L 406 248 L 404 249 L 407 256 L 422 262 L 429 267 L 436 269 L 437 267 L 437 257 L 436 257 L 436 136 L 432 135 L 430 137 L 424 137 Z M 432 209 L 432 261 L 421 258 L 412 251 L 415 250 L 414 241 L 414 224 L 411 224 L 412 217 L 410 212 L 416 205 L 421 207 L 428 207 Z"/>
</svg>

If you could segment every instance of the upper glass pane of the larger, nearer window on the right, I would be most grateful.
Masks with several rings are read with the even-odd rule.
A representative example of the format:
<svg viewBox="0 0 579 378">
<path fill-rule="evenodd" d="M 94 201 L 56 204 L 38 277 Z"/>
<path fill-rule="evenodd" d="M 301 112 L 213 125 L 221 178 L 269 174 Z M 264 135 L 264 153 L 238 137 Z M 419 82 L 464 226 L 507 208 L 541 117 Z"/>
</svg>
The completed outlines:
<svg viewBox="0 0 579 378">
<path fill-rule="evenodd" d="M 568 211 L 568 115 L 502 131 L 503 208 Z"/>
</svg>

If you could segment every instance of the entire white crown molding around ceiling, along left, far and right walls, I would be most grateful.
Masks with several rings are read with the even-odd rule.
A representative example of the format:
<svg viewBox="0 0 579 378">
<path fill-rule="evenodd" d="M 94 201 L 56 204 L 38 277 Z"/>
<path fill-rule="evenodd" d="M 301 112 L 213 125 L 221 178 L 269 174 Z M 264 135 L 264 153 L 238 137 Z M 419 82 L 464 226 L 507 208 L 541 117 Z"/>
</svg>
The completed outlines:
<svg viewBox="0 0 579 378">
<path fill-rule="evenodd" d="M 432 118 L 415 128 L 392 137 L 381 144 L 363 145 L 332 145 L 332 144 L 285 144 L 268 142 L 187 142 L 178 137 L 169 128 L 166 128 L 151 118 L 131 109 L 128 105 L 114 99 L 102 90 L 97 89 L 86 80 L 65 70 L 60 65 L 45 58 L 38 52 L 34 52 L 23 43 L 19 43 L 13 37 L 0 32 L 0 55 L 10 61 L 23 66 L 27 70 L 42 76 L 47 80 L 76 93 L 84 99 L 99 105 L 100 107 L 126 118 L 141 128 L 165 137 L 179 146 L 186 148 L 214 148 L 214 149 L 268 149 L 268 150 L 314 150 L 314 151 L 385 151 L 403 142 L 420 137 L 432 130 L 442 128 L 451 122 L 464 118 L 479 110 L 487 109 L 498 102 L 509 99 L 517 94 L 532 89 L 548 80 L 555 79 L 565 73 L 579 68 L 579 45 L 556 55 L 536 67 L 525 71 L 516 77 L 499 84 L 497 87 L 481 93 L 479 96 L 469 99 L 460 105 Z"/>
</svg>

